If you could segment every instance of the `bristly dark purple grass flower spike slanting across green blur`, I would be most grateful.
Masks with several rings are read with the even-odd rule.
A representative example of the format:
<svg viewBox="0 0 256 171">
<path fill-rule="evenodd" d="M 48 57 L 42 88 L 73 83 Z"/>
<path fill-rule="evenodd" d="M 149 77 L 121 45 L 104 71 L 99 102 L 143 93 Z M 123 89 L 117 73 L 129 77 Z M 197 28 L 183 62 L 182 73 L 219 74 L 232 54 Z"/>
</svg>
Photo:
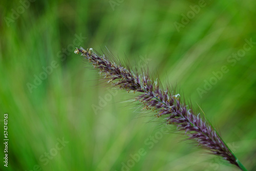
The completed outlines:
<svg viewBox="0 0 256 171">
<path fill-rule="evenodd" d="M 183 131 L 189 140 L 208 149 L 211 154 L 221 156 L 241 170 L 246 170 L 210 122 L 188 109 L 185 102 L 180 100 L 179 94 L 173 94 L 168 88 L 162 90 L 159 81 L 153 81 L 148 73 L 134 73 L 129 68 L 124 68 L 121 62 L 114 58 L 100 56 L 92 49 L 77 48 L 75 53 L 79 52 L 88 59 L 94 69 L 99 70 L 99 74 L 112 87 L 128 92 L 140 92 L 135 99 L 143 103 L 146 109 L 156 112 L 156 117 L 163 117 L 165 123 L 176 125 L 177 130 Z"/>
</svg>

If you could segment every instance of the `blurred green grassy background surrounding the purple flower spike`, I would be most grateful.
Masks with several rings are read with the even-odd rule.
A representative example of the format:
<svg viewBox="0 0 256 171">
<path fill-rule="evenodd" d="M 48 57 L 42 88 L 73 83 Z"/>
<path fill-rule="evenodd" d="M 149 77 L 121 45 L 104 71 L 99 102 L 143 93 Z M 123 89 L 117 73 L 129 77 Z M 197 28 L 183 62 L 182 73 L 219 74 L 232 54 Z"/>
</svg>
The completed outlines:
<svg viewBox="0 0 256 171">
<path fill-rule="evenodd" d="M 97 86 L 97 73 L 73 53 L 79 46 L 107 47 L 177 84 L 256 170 L 256 45 L 245 40 L 256 42 L 254 1 L 0 4 L 2 160 L 9 114 L 9 164 L 1 161 L 1 170 L 238 170 L 164 134 L 125 102 L 131 94 Z"/>
</svg>

